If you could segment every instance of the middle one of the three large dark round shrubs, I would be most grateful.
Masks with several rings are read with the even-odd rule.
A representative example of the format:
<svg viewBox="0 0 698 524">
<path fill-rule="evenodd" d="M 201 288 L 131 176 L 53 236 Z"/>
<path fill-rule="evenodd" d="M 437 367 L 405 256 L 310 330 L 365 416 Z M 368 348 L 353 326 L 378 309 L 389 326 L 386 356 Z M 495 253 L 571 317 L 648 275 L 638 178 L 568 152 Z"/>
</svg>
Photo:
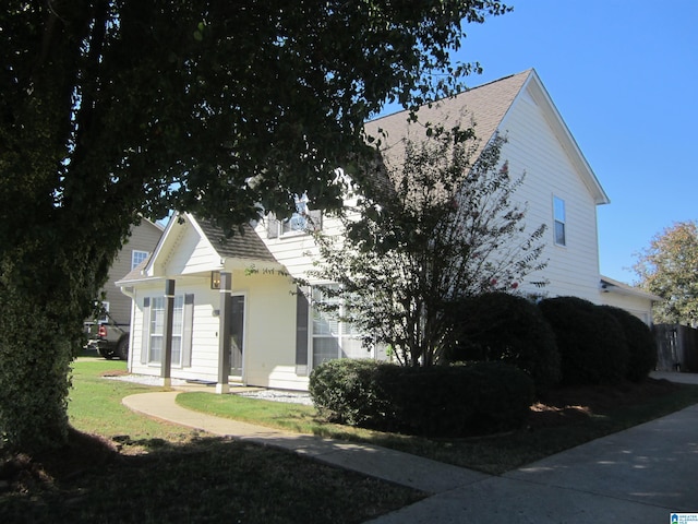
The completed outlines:
<svg viewBox="0 0 698 524">
<path fill-rule="evenodd" d="M 562 384 L 613 384 L 625 378 L 627 342 L 611 314 L 577 297 L 549 298 L 539 308 L 557 340 Z"/>
</svg>

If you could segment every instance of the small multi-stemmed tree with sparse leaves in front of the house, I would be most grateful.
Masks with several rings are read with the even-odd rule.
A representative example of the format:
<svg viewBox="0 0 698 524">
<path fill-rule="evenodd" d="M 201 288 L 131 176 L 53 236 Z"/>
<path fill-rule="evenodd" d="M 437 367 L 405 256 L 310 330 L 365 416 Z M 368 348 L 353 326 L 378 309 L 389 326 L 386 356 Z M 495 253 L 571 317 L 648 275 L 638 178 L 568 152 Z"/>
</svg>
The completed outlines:
<svg viewBox="0 0 698 524">
<path fill-rule="evenodd" d="M 400 162 L 365 179 L 340 215 L 346 234 L 315 234 L 321 257 L 311 276 L 338 284 L 316 294 L 315 307 L 339 314 L 365 343 L 389 346 L 404 365 L 440 362 L 459 300 L 545 285 L 530 278 L 546 265 L 545 226 L 524 222 L 524 174 L 512 177 L 501 162 L 503 138 L 476 157 L 478 143 L 459 128 L 408 139 Z"/>
</svg>

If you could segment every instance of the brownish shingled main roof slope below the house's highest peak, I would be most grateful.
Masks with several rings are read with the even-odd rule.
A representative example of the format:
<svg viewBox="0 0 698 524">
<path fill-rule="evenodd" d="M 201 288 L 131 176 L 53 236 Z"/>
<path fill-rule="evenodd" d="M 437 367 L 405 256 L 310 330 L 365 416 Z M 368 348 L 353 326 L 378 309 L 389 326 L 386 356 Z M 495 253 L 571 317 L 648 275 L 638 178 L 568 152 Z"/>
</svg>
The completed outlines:
<svg viewBox="0 0 698 524">
<path fill-rule="evenodd" d="M 512 107 L 514 99 L 521 91 L 532 70 L 505 76 L 489 84 L 473 87 L 462 92 L 453 98 L 443 99 L 432 107 L 422 106 L 417 116 L 419 122 L 441 123 L 445 127 L 460 124 L 467 128 L 474 123 L 476 136 L 480 140 L 480 146 L 476 150 L 476 158 L 481 150 L 492 138 L 502 122 L 506 112 Z M 388 152 L 398 144 L 404 143 L 410 132 L 420 132 L 418 124 L 407 124 L 408 112 L 400 111 L 386 117 L 377 118 L 366 123 L 366 132 L 378 136 L 378 129 L 387 133 L 382 151 Z M 395 154 L 399 157 L 400 150 Z M 392 152 L 390 152 L 392 153 Z M 388 156 L 392 154 L 388 153 Z"/>
</svg>

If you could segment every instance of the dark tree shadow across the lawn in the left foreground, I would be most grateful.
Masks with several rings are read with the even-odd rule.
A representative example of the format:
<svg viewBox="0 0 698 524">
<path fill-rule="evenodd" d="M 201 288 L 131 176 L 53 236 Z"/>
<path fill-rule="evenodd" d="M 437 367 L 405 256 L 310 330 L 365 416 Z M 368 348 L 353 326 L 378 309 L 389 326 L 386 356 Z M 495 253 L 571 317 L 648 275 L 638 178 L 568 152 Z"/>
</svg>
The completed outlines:
<svg viewBox="0 0 698 524">
<path fill-rule="evenodd" d="M 353 524 L 423 497 L 227 438 L 108 441 L 73 430 L 51 454 L 4 458 L 0 522 Z"/>
</svg>

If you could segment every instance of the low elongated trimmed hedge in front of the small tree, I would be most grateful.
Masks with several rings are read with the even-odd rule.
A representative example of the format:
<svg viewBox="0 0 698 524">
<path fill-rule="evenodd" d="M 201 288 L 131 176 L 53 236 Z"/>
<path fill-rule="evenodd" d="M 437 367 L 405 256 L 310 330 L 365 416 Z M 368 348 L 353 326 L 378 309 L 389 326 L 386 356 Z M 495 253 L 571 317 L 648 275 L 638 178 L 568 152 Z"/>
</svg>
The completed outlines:
<svg viewBox="0 0 698 524">
<path fill-rule="evenodd" d="M 310 394 L 328 420 L 430 437 L 462 437 L 520 427 L 533 382 L 503 362 L 401 367 L 373 360 L 325 362 Z"/>
</svg>

